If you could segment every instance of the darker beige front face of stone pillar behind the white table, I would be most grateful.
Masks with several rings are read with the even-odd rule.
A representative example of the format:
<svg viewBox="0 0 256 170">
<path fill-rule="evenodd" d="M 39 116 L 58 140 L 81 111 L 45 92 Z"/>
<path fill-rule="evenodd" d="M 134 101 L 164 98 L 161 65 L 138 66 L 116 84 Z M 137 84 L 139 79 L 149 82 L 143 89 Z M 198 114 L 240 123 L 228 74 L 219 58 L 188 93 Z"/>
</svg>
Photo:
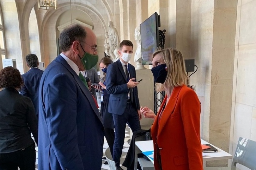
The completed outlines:
<svg viewBox="0 0 256 170">
<path fill-rule="evenodd" d="M 227 152 L 230 144 L 236 15 L 237 0 L 214 1 L 209 142 Z M 227 163 L 227 160 L 218 161 L 218 166 L 226 166 Z M 215 164 L 207 164 L 212 165 Z"/>
</svg>

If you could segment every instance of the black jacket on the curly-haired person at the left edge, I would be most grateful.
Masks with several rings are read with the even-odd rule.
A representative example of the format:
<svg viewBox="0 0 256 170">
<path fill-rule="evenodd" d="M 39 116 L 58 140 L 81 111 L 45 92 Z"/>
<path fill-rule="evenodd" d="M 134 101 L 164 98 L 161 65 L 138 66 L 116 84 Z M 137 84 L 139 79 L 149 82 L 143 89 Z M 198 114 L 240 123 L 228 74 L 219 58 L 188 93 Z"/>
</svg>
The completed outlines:
<svg viewBox="0 0 256 170">
<path fill-rule="evenodd" d="M 0 153 L 22 150 L 37 143 L 38 123 L 31 99 L 14 88 L 0 91 Z"/>
</svg>

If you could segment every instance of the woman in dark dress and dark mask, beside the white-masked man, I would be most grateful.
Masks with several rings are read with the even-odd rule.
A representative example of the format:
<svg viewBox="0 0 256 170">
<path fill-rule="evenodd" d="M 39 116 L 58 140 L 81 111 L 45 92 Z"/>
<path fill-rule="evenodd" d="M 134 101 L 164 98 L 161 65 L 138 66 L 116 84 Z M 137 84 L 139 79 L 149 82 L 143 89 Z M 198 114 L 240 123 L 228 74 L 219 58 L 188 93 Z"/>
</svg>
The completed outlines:
<svg viewBox="0 0 256 170">
<path fill-rule="evenodd" d="M 105 137 L 109 145 L 109 149 L 111 152 L 111 155 L 113 156 L 113 145 L 114 145 L 114 140 L 115 140 L 115 132 L 114 132 L 114 121 L 112 114 L 108 112 L 108 105 L 109 105 L 109 94 L 106 92 L 106 86 L 105 86 L 105 77 L 107 74 L 107 68 L 108 66 L 112 63 L 112 60 L 108 57 L 103 57 L 99 61 L 99 67 L 103 71 L 104 77 L 103 77 L 103 83 L 99 82 L 99 85 L 102 87 L 100 88 L 99 86 L 93 86 L 96 89 L 102 91 L 102 96 L 101 96 L 101 106 L 100 106 L 100 112 L 102 114 L 102 123 L 104 126 L 105 130 Z"/>
</svg>

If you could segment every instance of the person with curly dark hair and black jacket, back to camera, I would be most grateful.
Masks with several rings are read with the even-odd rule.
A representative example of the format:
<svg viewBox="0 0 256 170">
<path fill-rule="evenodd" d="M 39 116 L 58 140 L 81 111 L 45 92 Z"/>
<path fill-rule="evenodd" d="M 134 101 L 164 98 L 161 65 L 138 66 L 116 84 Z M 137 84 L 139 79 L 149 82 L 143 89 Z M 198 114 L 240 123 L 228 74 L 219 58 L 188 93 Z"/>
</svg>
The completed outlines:
<svg viewBox="0 0 256 170">
<path fill-rule="evenodd" d="M 0 169 L 35 170 L 38 123 L 33 103 L 19 94 L 23 81 L 18 69 L 0 71 Z"/>
</svg>

